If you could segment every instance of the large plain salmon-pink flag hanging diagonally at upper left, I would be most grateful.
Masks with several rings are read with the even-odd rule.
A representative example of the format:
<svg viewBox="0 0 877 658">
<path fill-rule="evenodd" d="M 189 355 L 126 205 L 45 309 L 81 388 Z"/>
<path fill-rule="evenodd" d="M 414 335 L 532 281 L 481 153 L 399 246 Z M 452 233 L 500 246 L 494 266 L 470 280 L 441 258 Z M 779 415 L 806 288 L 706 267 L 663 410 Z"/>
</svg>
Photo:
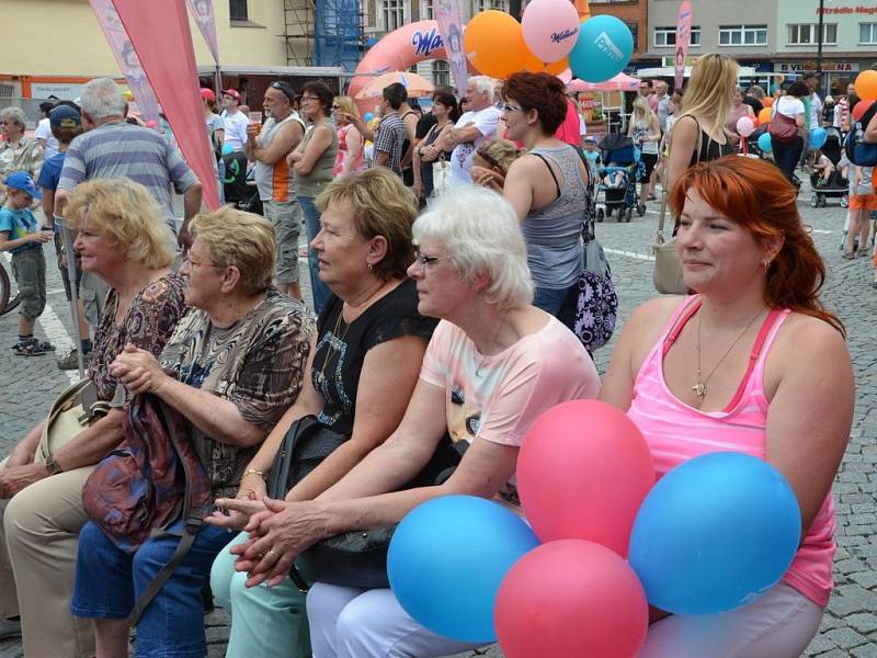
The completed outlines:
<svg viewBox="0 0 877 658">
<path fill-rule="evenodd" d="M 185 5 L 176 0 L 113 0 L 173 136 L 204 188 L 204 203 L 219 207 L 216 160 L 207 138 L 195 49 Z"/>
</svg>

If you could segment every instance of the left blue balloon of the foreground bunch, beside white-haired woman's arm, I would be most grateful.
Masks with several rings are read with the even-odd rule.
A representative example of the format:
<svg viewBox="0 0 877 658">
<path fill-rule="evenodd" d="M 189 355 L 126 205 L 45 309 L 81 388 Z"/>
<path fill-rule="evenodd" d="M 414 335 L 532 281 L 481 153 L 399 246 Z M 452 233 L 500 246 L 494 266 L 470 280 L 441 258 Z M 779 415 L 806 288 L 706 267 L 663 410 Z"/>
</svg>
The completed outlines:
<svg viewBox="0 0 877 658">
<path fill-rule="evenodd" d="M 475 496 L 444 496 L 411 510 L 387 555 L 390 587 L 430 631 L 462 642 L 497 640 L 493 602 L 512 565 L 539 545 L 509 509 Z"/>
</svg>

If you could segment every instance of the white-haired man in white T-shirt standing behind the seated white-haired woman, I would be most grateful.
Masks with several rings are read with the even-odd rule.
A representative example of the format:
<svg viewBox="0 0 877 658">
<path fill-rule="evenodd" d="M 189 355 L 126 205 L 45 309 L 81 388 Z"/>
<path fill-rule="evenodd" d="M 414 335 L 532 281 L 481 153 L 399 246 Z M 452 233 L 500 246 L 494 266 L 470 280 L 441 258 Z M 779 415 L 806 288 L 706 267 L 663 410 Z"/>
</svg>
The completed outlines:
<svg viewBox="0 0 877 658">
<path fill-rule="evenodd" d="M 501 114 L 493 105 L 493 80 L 487 76 L 469 78 L 463 100 L 468 102 L 468 112 L 441 138 L 441 150 L 454 149 L 451 185 L 471 184 L 472 156 L 485 141 L 496 137 Z"/>
</svg>

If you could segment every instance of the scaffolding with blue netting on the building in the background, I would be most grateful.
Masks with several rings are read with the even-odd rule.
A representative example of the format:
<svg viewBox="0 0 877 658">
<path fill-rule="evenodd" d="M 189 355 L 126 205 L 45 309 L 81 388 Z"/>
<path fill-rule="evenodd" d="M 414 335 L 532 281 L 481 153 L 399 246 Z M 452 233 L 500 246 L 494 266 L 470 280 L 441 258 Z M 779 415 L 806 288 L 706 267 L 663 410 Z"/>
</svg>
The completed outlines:
<svg viewBox="0 0 877 658">
<path fill-rule="evenodd" d="M 284 0 L 287 66 L 338 66 L 353 72 L 363 56 L 360 0 Z"/>
</svg>

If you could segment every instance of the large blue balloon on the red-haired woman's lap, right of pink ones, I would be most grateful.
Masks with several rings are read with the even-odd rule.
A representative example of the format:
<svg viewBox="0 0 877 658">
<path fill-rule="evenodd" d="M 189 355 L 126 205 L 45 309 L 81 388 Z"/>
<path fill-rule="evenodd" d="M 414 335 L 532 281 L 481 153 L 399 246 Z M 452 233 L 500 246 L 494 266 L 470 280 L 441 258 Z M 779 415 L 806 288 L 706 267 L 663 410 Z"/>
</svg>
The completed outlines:
<svg viewBox="0 0 877 658">
<path fill-rule="evenodd" d="M 774 587 L 800 532 L 795 492 L 775 468 L 742 453 L 709 453 L 654 485 L 634 522 L 628 559 L 652 605 L 715 614 Z"/>
</svg>

